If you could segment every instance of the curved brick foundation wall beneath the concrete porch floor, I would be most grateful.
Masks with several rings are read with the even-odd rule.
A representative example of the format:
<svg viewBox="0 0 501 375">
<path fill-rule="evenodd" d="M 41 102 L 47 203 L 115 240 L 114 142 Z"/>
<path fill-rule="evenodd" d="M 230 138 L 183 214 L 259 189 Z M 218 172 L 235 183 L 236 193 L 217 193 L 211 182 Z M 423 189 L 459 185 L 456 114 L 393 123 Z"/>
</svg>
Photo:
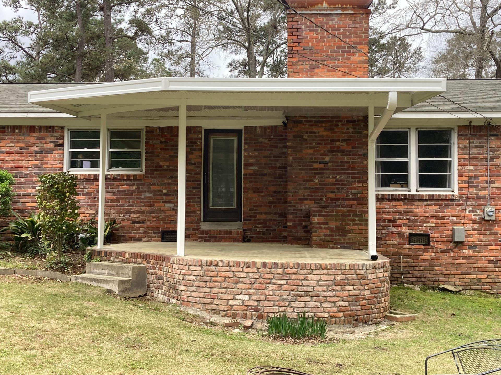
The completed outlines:
<svg viewBox="0 0 501 375">
<path fill-rule="evenodd" d="M 146 264 L 148 295 L 231 318 L 306 311 L 330 324 L 378 323 L 389 310 L 389 260 L 303 263 L 191 259 L 94 250 L 102 260 Z"/>
</svg>

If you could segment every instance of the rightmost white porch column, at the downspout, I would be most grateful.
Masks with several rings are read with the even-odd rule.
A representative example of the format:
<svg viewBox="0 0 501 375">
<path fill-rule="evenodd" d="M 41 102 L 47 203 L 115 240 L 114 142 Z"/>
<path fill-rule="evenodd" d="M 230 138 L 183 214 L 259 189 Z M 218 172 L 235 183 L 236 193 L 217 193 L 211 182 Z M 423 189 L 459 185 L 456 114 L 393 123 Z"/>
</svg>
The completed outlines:
<svg viewBox="0 0 501 375">
<path fill-rule="evenodd" d="M 367 133 L 371 134 L 374 129 L 374 101 L 369 101 L 367 107 Z M 368 205 L 368 226 L 369 226 L 369 257 L 377 259 L 376 252 L 376 140 L 370 139 L 367 147 L 367 205 Z"/>
</svg>

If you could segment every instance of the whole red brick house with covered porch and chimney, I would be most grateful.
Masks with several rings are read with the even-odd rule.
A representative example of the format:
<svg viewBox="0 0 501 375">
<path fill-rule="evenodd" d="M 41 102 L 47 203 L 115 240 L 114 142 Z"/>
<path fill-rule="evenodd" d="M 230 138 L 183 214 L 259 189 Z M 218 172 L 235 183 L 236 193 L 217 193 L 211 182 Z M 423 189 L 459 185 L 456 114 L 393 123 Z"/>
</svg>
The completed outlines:
<svg viewBox="0 0 501 375">
<path fill-rule="evenodd" d="M 288 78 L 0 84 L 15 209 L 36 209 L 38 175 L 77 174 L 81 215 L 122 222 L 96 256 L 144 263 L 150 295 L 224 316 L 375 323 L 390 276 L 501 290 L 483 218 L 496 127 L 487 194 L 484 119 L 436 96 L 501 123 L 499 82 L 367 78 L 369 1 L 289 4 Z"/>
</svg>

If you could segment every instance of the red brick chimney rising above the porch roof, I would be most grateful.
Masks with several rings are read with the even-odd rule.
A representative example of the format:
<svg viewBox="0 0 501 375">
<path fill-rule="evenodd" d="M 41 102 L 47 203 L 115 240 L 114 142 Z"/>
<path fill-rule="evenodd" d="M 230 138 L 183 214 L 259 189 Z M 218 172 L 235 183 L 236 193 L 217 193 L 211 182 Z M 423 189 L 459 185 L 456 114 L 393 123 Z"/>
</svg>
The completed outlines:
<svg viewBox="0 0 501 375">
<path fill-rule="evenodd" d="M 289 6 L 298 13 L 312 19 L 365 53 L 369 52 L 370 3 L 371 0 L 288 1 Z M 353 75 L 366 78 L 368 76 L 369 59 L 366 54 L 327 33 L 291 9 L 287 10 L 287 39 L 289 42 L 287 76 L 289 78 L 354 78 Z M 297 44 L 322 54 L 305 50 Z M 307 57 L 339 70 L 348 71 L 353 75 L 327 67 Z"/>
</svg>

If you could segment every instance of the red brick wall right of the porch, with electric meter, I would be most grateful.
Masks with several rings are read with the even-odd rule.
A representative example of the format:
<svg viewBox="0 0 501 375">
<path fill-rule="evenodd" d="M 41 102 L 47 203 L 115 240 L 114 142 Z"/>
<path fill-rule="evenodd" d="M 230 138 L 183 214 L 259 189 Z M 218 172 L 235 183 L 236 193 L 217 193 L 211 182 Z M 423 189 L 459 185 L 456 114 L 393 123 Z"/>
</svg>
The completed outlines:
<svg viewBox="0 0 501 375">
<path fill-rule="evenodd" d="M 472 126 L 468 162 L 468 127 L 458 128 L 457 195 L 377 197 L 378 249 L 392 260 L 394 282 L 445 283 L 501 292 L 501 215 L 498 211 L 496 220 L 482 219 L 487 205 L 486 136 L 486 126 Z M 490 146 L 491 205 L 499 209 L 501 142 L 496 128 L 491 129 Z M 466 241 L 453 248 L 452 226 L 463 224 Z M 409 232 L 430 233 L 436 247 L 408 245 Z"/>
</svg>

